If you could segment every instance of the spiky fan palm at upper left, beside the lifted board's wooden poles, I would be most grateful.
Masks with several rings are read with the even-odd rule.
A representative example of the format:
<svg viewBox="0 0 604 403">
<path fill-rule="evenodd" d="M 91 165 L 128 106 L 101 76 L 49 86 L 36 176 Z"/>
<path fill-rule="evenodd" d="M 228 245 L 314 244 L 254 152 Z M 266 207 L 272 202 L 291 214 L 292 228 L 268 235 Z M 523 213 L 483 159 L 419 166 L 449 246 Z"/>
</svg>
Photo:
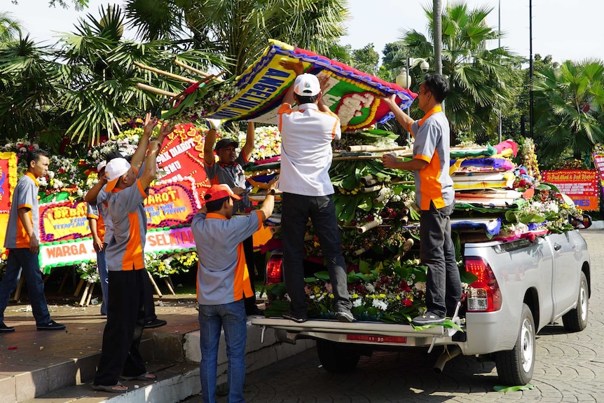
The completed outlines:
<svg viewBox="0 0 604 403">
<path fill-rule="evenodd" d="M 217 57 L 199 50 L 181 52 L 171 41 L 125 41 L 121 9 L 108 6 L 100 12 L 99 20 L 89 14 L 74 34 L 65 34 L 59 41 L 64 65 L 57 69 L 57 76 L 66 88 L 62 107 L 71 120 L 67 134 L 78 142 L 88 139 L 89 144 L 99 142 L 102 134 L 111 137 L 121 118 L 161 106 L 162 100 L 139 90 L 137 83 L 173 93 L 184 90 L 181 81 L 141 70 L 135 62 L 179 75 L 188 73 L 174 66 L 174 60 L 202 70 L 220 64 Z"/>
</svg>

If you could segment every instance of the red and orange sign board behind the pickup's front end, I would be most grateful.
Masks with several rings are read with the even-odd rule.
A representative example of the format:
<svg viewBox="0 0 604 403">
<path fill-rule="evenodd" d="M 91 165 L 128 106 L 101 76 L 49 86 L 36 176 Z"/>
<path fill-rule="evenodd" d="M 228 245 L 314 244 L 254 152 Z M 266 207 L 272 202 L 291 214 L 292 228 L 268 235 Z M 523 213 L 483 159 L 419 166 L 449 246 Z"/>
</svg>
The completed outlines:
<svg viewBox="0 0 604 403">
<path fill-rule="evenodd" d="M 582 210 L 600 210 L 598 173 L 593 170 L 543 171 L 543 182 L 556 185 Z"/>
</svg>

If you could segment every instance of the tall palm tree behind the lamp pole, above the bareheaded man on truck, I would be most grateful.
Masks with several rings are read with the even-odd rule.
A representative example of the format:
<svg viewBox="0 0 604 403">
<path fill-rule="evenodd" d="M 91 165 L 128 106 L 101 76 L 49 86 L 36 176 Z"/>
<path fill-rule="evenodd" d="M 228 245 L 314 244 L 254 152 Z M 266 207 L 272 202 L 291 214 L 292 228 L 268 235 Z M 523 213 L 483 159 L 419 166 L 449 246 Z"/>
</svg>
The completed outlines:
<svg viewBox="0 0 604 403">
<path fill-rule="evenodd" d="M 432 9 L 425 8 L 430 32 Z M 476 142 L 495 136 L 497 111 L 511 106 L 516 97 L 512 83 L 520 71 L 518 58 L 505 47 L 488 50 L 488 41 L 501 33 L 486 25 L 490 7 L 469 9 L 462 1 L 451 1 L 442 14 L 442 72 L 448 76 L 451 92 L 446 111 L 451 123 L 451 144 L 461 132 Z M 413 30 L 404 35 L 407 52 L 424 57 L 434 65 L 432 38 Z M 421 79 L 416 77 L 416 83 Z"/>
</svg>

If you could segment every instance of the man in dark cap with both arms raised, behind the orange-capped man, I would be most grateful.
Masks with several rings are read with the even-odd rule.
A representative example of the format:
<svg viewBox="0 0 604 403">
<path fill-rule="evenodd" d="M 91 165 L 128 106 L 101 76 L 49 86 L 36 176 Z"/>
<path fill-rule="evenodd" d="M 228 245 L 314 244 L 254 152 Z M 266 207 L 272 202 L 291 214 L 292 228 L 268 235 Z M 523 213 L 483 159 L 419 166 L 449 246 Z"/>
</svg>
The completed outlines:
<svg viewBox="0 0 604 403">
<path fill-rule="evenodd" d="M 208 123 L 210 131 L 207 132 L 205 142 L 203 143 L 203 168 L 205 168 L 205 175 L 207 175 L 207 179 L 213 185 L 227 184 L 230 186 L 233 193 L 241 198 L 241 200 L 236 200 L 233 203 L 233 214 L 244 212 L 247 208 L 252 207 L 252 202 L 247 198 L 243 165 L 248 163 L 249 158 L 252 158 L 252 151 L 254 150 L 254 123 L 247 123 L 245 144 L 239 156 L 236 153 L 239 146 L 237 140 L 224 138 L 216 143 L 214 150 L 218 156 L 218 162 L 214 158 L 212 147 L 214 146 L 214 142 L 216 142 L 216 131 L 220 128 L 220 121 L 208 119 Z M 254 240 L 252 236 L 243 241 L 243 250 L 245 252 L 249 282 L 253 290 L 256 266 L 254 264 Z M 245 313 L 247 315 L 260 315 L 262 313 L 256 306 L 255 292 L 252 296 L 245 299 Z"/>
</svg>

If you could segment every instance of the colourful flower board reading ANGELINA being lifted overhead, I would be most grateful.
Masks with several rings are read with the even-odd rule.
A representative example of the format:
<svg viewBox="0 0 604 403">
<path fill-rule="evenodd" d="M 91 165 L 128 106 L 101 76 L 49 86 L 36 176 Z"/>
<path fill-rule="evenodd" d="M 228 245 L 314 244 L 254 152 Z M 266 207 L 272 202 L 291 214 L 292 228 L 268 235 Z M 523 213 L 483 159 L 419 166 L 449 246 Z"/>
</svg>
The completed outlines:
<svg viewBox="0 0 604 403">
<path fill-rule="evenodd" d="M 340 118 L 342 130 L 367 128 L 383 123 L 394 115 L 379 97 L 396 94 L 401 109 L 409 107 L 417 96 L 397 84 L 387 83 L 346 64 L 308 50 L 275 40 L 269 41 L 263 55 L 238 77 L 239 92 L 208 117 L 247 119 L 277 124 L 277 109 L 296 73 L 280 65 L 282 60 L 302 62 L 305 72 L 329 76 L 323 100 Z"/>
</svg>

